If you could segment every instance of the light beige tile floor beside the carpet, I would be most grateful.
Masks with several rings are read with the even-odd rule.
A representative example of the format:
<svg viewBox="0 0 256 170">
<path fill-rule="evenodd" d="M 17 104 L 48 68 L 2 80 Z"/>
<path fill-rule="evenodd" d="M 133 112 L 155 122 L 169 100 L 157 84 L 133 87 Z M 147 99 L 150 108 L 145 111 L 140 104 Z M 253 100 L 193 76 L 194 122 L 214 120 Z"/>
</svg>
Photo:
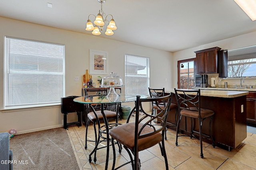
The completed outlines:
<svg viewBox="0 0 256 170">
<path fill-rule="evenodd" d="M 126 123 L 122 119 L 119 123 Z M 88 127 L 88 137 L 94 137 L 93 125 Z M 89 154 L 94 148 L 94 143 L 89 142 L 88 149 L 84 149 L 85 144 L 85 126 L 68 127 L 67 133 L 78 161 L 80 170 L 104 170 L 106 159 L 106 148 L 97 151 L 96 163 L 89 163 Z M 256 170 L 256 134 L 247 133 L 247 138 L 241 145 L 232 149 L 230 152 L 213 148 L 208 143 L 203 143 L 204 158 L 200 158 L 200 143 L 197 139 L 190 137 L 179 137 L 179 145 L 175 145 L 176 132 L 168 129 L 168 140 L 165 141 L 166 153 L 168 158 L 169 170 Z M 93 139 L 93 138 L 92 138 Z M 104 145 L 106 143 L 102 143 Z M 117 148 L 117 147 L 116 147 Z M 93 160 L 92 156 L 92 160 Z M 161 155 L 159 145 L 139 152 L 142 170 L 162 170 L 165 169 L 164 158 Z M 108 169 L 112 167 L 113 153 L 110 147 L 110 156 Z M 116 167 L 127 162 L 129 156 L 125 149 L 119 154 L 116 151 Z M 121 170 L 130 170 L 130 164 L 120 168 Z"/>
</svg>

